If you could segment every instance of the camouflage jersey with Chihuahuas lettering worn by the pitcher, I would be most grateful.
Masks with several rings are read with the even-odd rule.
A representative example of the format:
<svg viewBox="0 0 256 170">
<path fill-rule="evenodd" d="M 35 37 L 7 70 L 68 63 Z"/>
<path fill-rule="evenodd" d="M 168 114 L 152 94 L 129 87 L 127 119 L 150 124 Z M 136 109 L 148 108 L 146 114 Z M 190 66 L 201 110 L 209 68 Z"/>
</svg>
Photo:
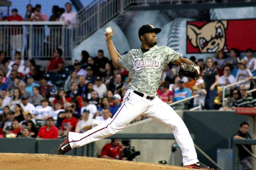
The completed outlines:
<svg viewBox="0 0 256 170">
<path fill-rule="evenodd" d="M 118 63 L 130 72 L 132 81 L 128 88 L 151 96 L 156 94 L 164 67 L 180 57 L 170 47 L 154 46 L 145 53 L 132 49 L 119 57 Z"/>
</svg>

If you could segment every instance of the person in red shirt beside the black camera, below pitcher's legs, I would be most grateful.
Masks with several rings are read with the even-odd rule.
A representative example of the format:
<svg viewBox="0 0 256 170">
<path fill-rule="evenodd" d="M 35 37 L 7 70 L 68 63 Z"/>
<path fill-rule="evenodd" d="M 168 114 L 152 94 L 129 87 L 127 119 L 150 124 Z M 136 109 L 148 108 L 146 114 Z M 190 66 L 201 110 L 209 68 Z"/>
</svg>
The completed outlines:
<svg viewBox="0 0 256 170">
<path fill-rule="evenodd" d="M 120 139 L 112 139 L 112 142 L 102 148 L 101 157 L 107 159 L 123 159 L 123 147 Z"/>
</svg>

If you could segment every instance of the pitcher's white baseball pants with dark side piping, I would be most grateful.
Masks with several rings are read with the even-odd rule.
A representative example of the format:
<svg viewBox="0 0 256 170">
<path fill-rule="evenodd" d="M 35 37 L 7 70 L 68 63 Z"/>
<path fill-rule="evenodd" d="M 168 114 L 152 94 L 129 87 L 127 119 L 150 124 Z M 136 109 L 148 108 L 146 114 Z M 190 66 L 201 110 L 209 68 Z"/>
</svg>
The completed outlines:
<svg viewBox="0 0 256 170">
<path fill-rule="evenodd" d="M 172 129 L 183 155 L 183 166 L 198 162 L 193 140 L 179 115 L 158 97 L 142 98 L 128 89 L 124 101 L 109 124 L 99 125 L 84 133 L 69 132 L 71 148 L 83 146 L 120 132 L 139 115 L 145 115 Z"/>
</svg>

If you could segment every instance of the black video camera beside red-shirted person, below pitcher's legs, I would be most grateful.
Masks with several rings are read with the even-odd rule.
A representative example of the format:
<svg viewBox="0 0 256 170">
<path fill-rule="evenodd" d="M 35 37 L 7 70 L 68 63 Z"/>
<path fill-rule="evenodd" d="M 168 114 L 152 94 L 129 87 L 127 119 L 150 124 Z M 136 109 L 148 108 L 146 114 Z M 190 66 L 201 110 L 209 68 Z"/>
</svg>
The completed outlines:
<svg viewBox="0 0 256 170">
<path fill-rule="evenodd" d="M 136 156 L 140 155 L 140 151 L 135 151 L 134 146 L 131 146 L 131 140 L 122 140 L 122 144 L 126 146 L 123 150 L 124 157 L 127 157 L 128 161 L 132 161 Z"/>
</svg>

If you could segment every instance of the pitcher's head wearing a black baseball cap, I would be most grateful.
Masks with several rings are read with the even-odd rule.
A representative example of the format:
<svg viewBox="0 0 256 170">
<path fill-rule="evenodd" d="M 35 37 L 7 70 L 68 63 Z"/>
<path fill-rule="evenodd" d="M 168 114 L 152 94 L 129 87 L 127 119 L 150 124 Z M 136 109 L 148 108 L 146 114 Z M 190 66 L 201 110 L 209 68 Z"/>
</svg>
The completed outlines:
<svg viewBox="0 0 256 170">
<path fill-rule="evenodd" d="M 154 47 L 154 45 L 157 44 L 156 34 L 159 32 L 161 32 L 161 29 L 154 28 L 154 26 L 151 24 L 141 26 L 139 29 L 139 38 L 141 43 L 147 44 L 150 47 Z"/>
</svg>

